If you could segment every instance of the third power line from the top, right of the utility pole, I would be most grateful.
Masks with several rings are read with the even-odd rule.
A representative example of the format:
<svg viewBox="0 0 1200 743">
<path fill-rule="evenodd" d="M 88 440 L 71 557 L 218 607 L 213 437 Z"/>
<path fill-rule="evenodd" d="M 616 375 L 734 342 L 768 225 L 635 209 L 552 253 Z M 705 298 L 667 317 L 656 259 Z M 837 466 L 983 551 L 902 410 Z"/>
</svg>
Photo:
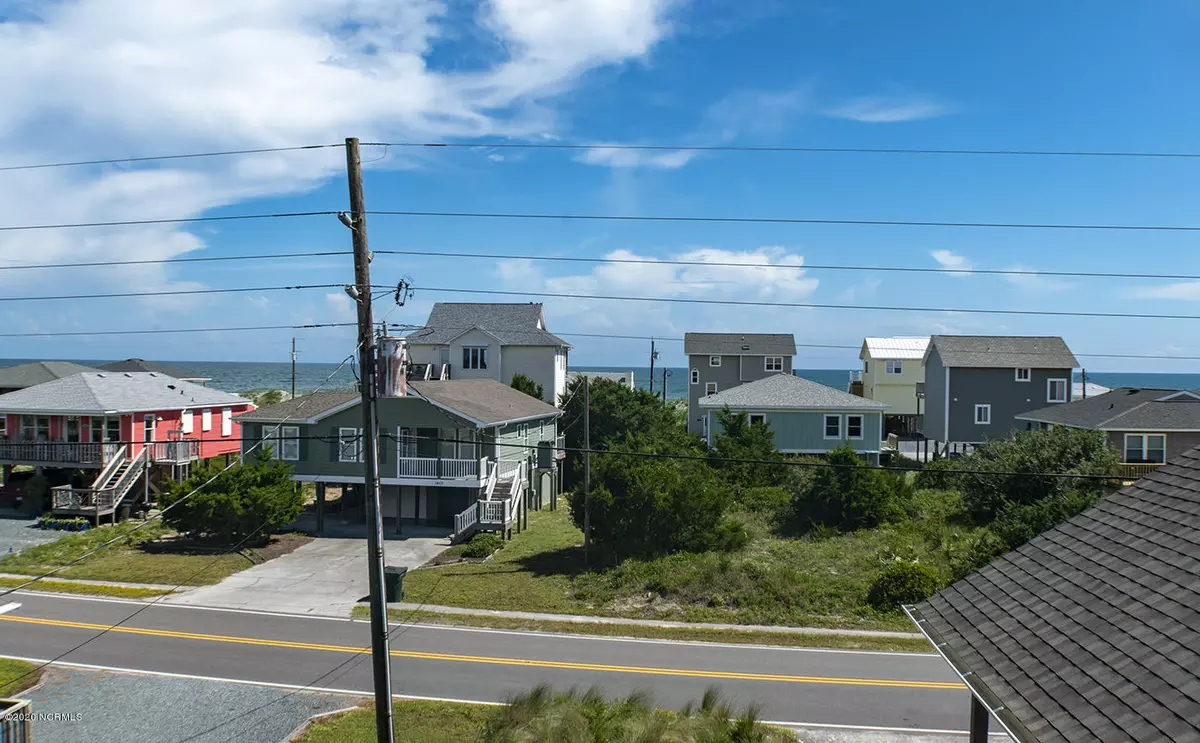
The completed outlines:
<svg viewBox="0 0 1200 743">
<path fill-rule="evenodd" d="M 376 254 L 385 256 L 424 256 L 430 258 L 482 258 L 493 260 L 547 260 L 562 263 L 613 263 L 629 265 L 695 265 L 701 268 L 748 268 L 748 269 L 794 269 L 800 271 L 900 271 L 910 274 L 985 274 L 996 276 L 1069 276 L 1079 278 L 1170 278 L 1200 281 L 1195 274 L 1110 274 L 1103 271 L 1040 271 L 1033 269 L 953 269 L 934 266 L 905 265 L 830 265 L 830 264 L 787 264 L 787 263 L 748 263 L 740 260 L 674 260 L 658 258 L 593 258 L 580 256 L 526 256 L 517 253 L 461 253 L 445 251 L 418 250 L 377 250 Z"/>
</svg>

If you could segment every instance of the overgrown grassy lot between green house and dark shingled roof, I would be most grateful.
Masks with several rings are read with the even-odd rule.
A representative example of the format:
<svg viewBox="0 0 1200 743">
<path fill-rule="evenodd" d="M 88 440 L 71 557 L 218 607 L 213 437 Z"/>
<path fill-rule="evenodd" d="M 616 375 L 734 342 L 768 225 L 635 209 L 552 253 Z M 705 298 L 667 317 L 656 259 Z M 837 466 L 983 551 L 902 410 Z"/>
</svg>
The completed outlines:
<svg viewBox="0 0 1200 743">
<path fill-rule="evenodd" d="M 866 605 L 888 561 L 940 571 L 972 527 L 954 523 L 955 493 L 919 491 L 917 517 L 828 538 L 774 534 L 745 516 L 752 539 L 734 553 L 629 559 L 584 570 L 582 534 L 566 508 L 530 514 L 529 529 L 486 563 L 414 570 L 412 603 L 554 613 L 912 631 L 900 613 Z"/>
</svg>

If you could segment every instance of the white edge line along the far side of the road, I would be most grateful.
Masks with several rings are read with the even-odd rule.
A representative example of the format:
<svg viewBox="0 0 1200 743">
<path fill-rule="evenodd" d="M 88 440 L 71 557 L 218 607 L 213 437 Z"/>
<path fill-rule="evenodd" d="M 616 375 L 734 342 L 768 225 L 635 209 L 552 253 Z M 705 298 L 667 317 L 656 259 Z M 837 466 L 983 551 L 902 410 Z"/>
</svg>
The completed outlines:
<svg viewBox="0 0 1200 743">
<path fill-rule="evenodd" d="M 67 594 L 56 593 L 47 594 L 46 592 L 25 592 L 18 591 L 16 593 L 22 593 L 26 595 L 46 597 L 54 599 L 68 599 L 72 601 L 100 601 L 106 604 L 136 604 L 138 606 L 144 606 L 148 601 L 140 601 L 138 599 L 119 599 L 112 597 L 94 597 L 94 595 L 79 595 L 79 594 Z M 188 609 L 192 611 L 221 611 L 227 613 L 239 613 L 239 615 L 252 615 L 260 617 L 283 617 L 290 619 L 320 619 L 324 622 L 350 622 L 354 624 L 368 624 L 368 619 L 356 619 L 354 617 L 330 617 L 325 615 L 301 615 L 294 612 L 282 612 L 282 611 L 262 611 L 254 609 L 232 609 L 224 606 L 199 606 L 196 604 L 168 604 L 158 601 L 154 604 L 155 607 L 168 607 L 168 609 Z M 401 610 L 403 611 L 403 610 Z M 454 617 L 455 615 L 445 615 L 448 617 Z M 487 617 L 487 615 L 468 615 L 468 616 L 481 616 Z M 506 617 L 500 617 L 506 618 Z M 541 619 L 534 619 L 535 622 Z M 554 621 L 554 619 L 547 619 Z M 582 624 L 582 623 L 581 623 Z M 607 627 L 622 627 L 620 624 L 610 624 L 598 622 L 596 624 L 605 624 Z M 667 639 L 654 639 L 654 637 L 624 637 L 619 635 L 586 635 L 586 634 L 574 634 L 574 633 L 554 633 L 554 631 L 539 631 L 539 630 L 520 630 L 520 629 L 498 629 L 490 627 L 464 627 L 458 624 L 425 624 L 421 622 L 408 623 L 408 622 L 391 622 L 388 623 L 389 627 L 394 629 L 437 629 L 444 631 L 456 631 L 456 633 L 481 633 L 491 635 L 512 635 L 520 637 L 563 637 L 570 640 L 593 640 L 599 642 L 635 642 L 642 645 L 677 645 L 685 647 L 719 647 L 719 648 L 732 648 L 732 649 L 768 649 L 768 651 L 790 651 L 794 653 L 835 653 L 845 654 L 850 653 L 853 655 L 890 655 L 890 657 L 911 657 L 911 658 L 940 658 L 937 653 L 918 653 L 912 651 L 854 651 L 850 648 L 824 648 L 824 647 L 794 647 L 788 645 L 761 645 L 751 642 L 706 642 L 703 640 L 667 640 Z M 680 628 L 688 629 L 688 628 Z M 698 628 L 703 629 L 703 628 Z M 731 631 L 764 631 L 764 630 L 731 630 Z M 822 635 L 823 636 L 823 635 Z M 853 635 L 838 635 L 838 636 L 850 636 Z"/>
</svg>

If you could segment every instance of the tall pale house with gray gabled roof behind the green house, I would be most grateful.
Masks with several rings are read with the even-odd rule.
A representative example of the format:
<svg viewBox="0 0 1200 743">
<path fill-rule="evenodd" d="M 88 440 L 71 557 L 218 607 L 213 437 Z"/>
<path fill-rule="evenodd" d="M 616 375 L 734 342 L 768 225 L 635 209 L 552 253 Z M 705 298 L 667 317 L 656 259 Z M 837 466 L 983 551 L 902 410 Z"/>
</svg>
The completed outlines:
<svg viewBox="0 0 1200 743">
<path fill-rule="evenodd" d="M 419 379 L 496 379 L 522 373 L 557 405 L 566 391 L 570 346 L 546 330 L 541 304 L 437 302 L 425 326 L 407 336 Z"/>
</svg>

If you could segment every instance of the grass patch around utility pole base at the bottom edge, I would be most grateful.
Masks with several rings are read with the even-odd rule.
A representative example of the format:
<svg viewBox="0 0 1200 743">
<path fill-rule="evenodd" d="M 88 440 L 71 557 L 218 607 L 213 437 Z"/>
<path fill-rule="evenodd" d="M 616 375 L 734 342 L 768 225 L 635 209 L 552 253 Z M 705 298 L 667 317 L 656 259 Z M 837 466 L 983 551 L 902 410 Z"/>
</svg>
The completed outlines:
<svg viewBox="0 0 1200 743">
<path fill-rule="evenodd" d="M 396 743 L 478 741 L 491 707 L 454 702 L 407 701 L 392 705 Z M 374 707 L 364 706 L 314 723 L 296 743 L 374 743 Z"/>
</svg>

